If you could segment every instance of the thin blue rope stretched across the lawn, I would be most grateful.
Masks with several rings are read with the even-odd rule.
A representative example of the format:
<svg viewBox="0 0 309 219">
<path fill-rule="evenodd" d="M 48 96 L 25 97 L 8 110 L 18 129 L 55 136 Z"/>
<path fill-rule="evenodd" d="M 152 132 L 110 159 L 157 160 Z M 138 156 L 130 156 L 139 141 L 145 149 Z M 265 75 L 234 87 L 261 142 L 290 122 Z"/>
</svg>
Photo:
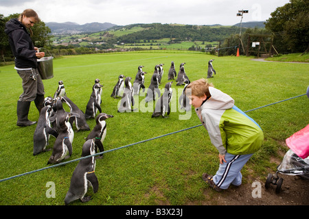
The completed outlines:
<svg viewBox="0 0 309 219">
<path fill-rule="evenodd" d="M 299 95 L 299 96 L 304 96 L 304 95 L 306 95 L 306 94 L 301 94 L 301 95 Z M 253 111 L 253 110 L 258 110 L 258 109 L 261 109 L 261 108 L 263 108 L 263 107 L 268 107 L 268 106 L 274 105 L 274 104 L 276 104 L 276 103 L 282 103 L 282 102 L 288 101 L 288 100 L 290 100 L 290 99 L 295 99 L 295 98 L 297 98 L 297 97 L 299 97 L 299 96 L 294 96 L 294 97 L 291 97 L 291 98 L 289 98 L 289 99 L 285 99 L 285 100 L 283 100 L 283 101 L 278 101 L 278 102 L 275 102 L 275 103 L 271 103 L 271 104 L 268 104 L 268 105 L 264 105 L 264 106 L 262 106 L 262 107 L 257 107 L 257 108 L 252 109 L 252 110 L 247 110 L 247 111 L 245 111 L 245 113 L 246 113 L 246 112 L 251 112 L 251 111 Z M 149 142 L 149 141 L 155 140 L 155 139 L 157 139 L 157 138 L 162 138 L 162 137 L 165 137 L 165 136 L 170 136 L 170 135 L 173 135 L 173 134 L 175 134 L 175 133 L 179 133 L 179 132 L 181 132 L 181 131 L 187 131 L 187 130 L 189 130 L 189 129 L 194 129 L 194 128 L 200 127 L 200 126 L 202 126 L 202 124 L 196 125 L 196 126 L 193 126 L 193 127 L 189 127 L 189 128 L 186 128 L 186 129 L 181 129 L 181 130 L 179 130 L 179 131 L 174 131 L 174 132 L 171 132 L 171 133 L 167 133 L 167 134 L 165 134 L 165 135 L 163 135 L 163 136 L 157 136 L 157 137 L 155 137 L 155 138 L 149 138 L 149 139 L 147 139 L 147 140 L 142 140 L 142 141 L 140 141 L 140 142 L 135 142 L 135 143 L 133 143 L 133 144 L 127 144 L 127 145 L 125 145 L 125 146 L 120 146 L 119 148 L 116 148 L 116 149 L 111 149 L 111 150 L 108 150 L 108 151 L 102 151 L 102 152 L 100 152 L 100 153 L 95 153 L 94 155 L 88 155 L 88 156 L 85 156 L 85 157 L 80 157 L 80 158 L 78 158 L 78 159 L 72 159 L 71 161 L 68 161 L 68 162 L 62 162 L 62 163 L 60 163 L 60 164 L 54 164 L 53 166 L 47 166 L 47 167 L 45 167 L 45 168 L 41 168 L 41 169 L 38 169 L 38 170 L 32 170 L 32 171 L 30 171 L 30 172 L 24 172 L 23 174 L 20 174 L 20 175 L 15 175 L 15 176 L 13 176 L 13 177 L 8 177 L 8 178 L 5 178 L 5 179 L 1 179 L 0 182 L 7 181 L 7 180 L 9 180 L 9 179 L 14 179 L 14 178 L 16 178 L 16 177 L 22 177 L 22 176 L 25 176 L 25 175 L 29 175 L 29 174 L 34 173 L 34 172 L 39 172 L 39 171 L 42 171 L 42 170 L 47 170 L 47 169 L 49 169 L 49 168 L 55 168 L 55 167 L 57 167 L 57 166 L 62 166 L 62 165 L 69 164 L 69 163 L 72 163 L 72 162 L 77 162 L 77 161 L 79 161 L 80 159 L 86 159 L 86 158 L 89 158 L 89 157 L 102 155 L 102 154 L 104 154 L 104 153 L 108 153 L 108 152 L 111 152 L 111 151 L 116 151 L 116 150 L 119 150 L 119 149 L 124 149 L 124 148 L 126 148 L 126 147 L 128 147 L 128 146 L 133 146 L 133 145 L 135 145 L 135 144 L 141 144 L 141 143 L 144 143 L 144 142 Z"/>
</svg>

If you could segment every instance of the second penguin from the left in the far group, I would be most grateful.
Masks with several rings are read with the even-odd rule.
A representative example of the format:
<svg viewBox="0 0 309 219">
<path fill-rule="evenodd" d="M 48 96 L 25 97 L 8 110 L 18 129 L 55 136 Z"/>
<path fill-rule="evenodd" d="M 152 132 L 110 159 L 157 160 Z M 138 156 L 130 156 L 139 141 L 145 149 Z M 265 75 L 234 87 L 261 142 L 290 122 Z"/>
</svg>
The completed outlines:
<svg viewBox="0 0 309 219">
<path fill-rule="evenodd" d="M 126 77 L 124 81 L 126 88 L 124 88 L 124 94 L 122 95 L 122 100 L 120 101 L 118 112 L 132 112 L 135 110 L 132 109 L 132 107 L 135 104 L 135 101 L 133 96 L 133 88 L 130 81 L 131 77 Z"/>
</svg>

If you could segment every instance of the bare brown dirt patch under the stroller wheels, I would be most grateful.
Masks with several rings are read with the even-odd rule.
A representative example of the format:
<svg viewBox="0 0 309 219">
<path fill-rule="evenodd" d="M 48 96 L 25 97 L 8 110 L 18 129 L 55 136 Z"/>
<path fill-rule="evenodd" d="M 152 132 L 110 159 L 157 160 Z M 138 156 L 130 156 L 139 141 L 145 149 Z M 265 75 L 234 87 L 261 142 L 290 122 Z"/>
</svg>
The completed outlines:
<svg viewBox="0 0 309 219">
<path fill-rule="evenodd" d="M 276 160 L 276 163 L 280 161 Z M 205 185 L 204 195 L 206 201 L 191 202 L 187 205 L 309 205 L 309 179 L 300 176 L 282 175 L 281 190 L 276 193 L 277 185 L 270 184 L 265 188 L 267 172 L 262 179 L 247 179 L 248 183 L 239 187 L 231 185 L 227 190 L 216 192 Z M 260 196 L 258 195 L 260 185 Z"/>
</svg>

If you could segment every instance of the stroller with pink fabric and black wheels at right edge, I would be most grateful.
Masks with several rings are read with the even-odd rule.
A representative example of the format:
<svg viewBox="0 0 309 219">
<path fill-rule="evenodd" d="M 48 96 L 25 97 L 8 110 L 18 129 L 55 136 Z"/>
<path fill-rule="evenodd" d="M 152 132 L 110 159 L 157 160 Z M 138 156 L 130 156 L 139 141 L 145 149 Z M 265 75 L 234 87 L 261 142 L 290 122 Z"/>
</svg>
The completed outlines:
<svg viewBox="0 0 309 219">
<path fill-rule="evenodd" d="M 304 179 L 309 179 L 309 125 L 287 138 L 286 144 L 290 150 L 284 155 L 284 159 L 277 167 L 277 171 L 274 174 L 268 173 L 265 183 L 266 189 L 271 184 L 277 185 L 276 193 L 280 192 L 284 181 L 283 178 L 279 177 L 279 173 L 283 175 L 299 175 Z"/>
</svg>

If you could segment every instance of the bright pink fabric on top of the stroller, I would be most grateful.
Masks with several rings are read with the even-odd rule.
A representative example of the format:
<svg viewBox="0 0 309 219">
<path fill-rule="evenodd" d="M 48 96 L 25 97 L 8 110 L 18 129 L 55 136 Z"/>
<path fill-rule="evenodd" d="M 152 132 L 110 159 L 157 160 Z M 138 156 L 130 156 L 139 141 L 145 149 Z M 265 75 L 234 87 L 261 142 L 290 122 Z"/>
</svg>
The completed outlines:
<svg viewBox="0 0 309 219">
<path fill-rule="evenodd" d="M 286 145 L 297 156 L 305 159 L 309 156 L 309 125 L 294 133 L 292 136 L 286 139 Z"/>
</svg>

